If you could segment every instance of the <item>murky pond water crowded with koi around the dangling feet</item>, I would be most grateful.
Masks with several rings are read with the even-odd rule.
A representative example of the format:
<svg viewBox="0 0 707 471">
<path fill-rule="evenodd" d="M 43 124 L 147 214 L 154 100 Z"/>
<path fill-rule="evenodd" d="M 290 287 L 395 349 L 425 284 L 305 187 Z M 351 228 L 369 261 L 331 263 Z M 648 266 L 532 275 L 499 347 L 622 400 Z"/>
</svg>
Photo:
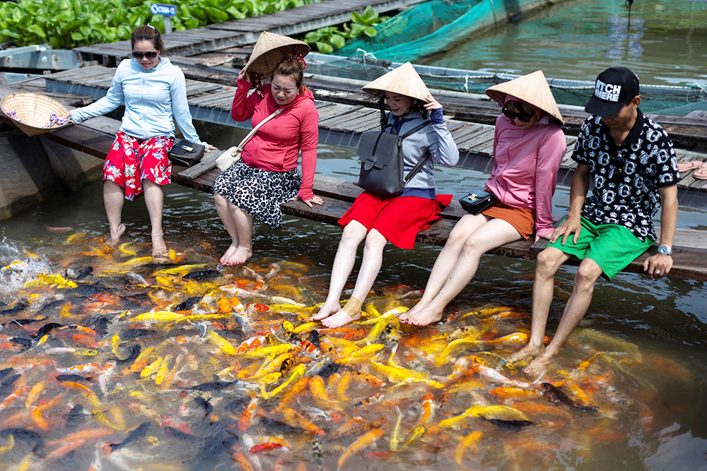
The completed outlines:
<svg viewBox="0 0 707 471">
<path fill-rule="evenodd" d="M 242 131 L 199 133 L 223 147 Z M 353 152 L 320 146 L 317 172 L 354 179 Z M 438 191 L 485 179 L 440 169 Z M 415 329 L 395 313 L 439 248 L 389 246 L 362 322 L 326 330 L 307 319 L 339 228 L 256 224 L 252 261 L 217 268 L 229 242 L 211 196 L 173 184 L 174 260 L 160 265 L 142 201 L 125 206 L 125 245 L 109 251 L 101 200 L 96 183 L 0 222 L 0 469 L 706 469 L 702 282 L 597 282 L 543 380 L 573 401 L 554 404 L 501 357 L 530 328 L 531 262 L 485 256 L 446 322 Z M 568 190 L 554 200 L 559 217 Z M 679 215 L 680 227 L 704 221 Z M 556 278 L 550 333 L 574 271 Z"/>
</svg>

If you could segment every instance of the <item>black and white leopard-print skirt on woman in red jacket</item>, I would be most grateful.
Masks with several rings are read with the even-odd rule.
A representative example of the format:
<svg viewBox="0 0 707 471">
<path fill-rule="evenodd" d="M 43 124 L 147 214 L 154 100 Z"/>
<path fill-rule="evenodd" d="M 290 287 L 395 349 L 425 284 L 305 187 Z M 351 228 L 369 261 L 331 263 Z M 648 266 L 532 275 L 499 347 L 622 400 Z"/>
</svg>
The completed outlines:
<svg viewBox="0 0 707 471">
<path fill-rule="evenodd" d="M 291 201 L 300 190 L 297 169 L 272 172 L 248 167 L 238 160 L 218 175 L 214 193 L 218 193 L 271 229 L 282 226 L 280 205 Z"/>
</svg>

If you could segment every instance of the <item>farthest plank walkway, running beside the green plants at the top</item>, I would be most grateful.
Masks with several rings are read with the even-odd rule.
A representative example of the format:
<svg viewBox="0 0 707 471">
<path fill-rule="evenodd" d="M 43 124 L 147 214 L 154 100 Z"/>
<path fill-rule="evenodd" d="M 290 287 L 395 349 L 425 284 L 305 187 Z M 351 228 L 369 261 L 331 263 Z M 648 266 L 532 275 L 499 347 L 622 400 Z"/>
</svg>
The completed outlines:
<svg viewBox="0 0 707 471">
<path fill-rule="evenodd" d="M 337 25 L 351 20 L 352 11 L 363 11 L 367 6 L 378 13 L 395 11 L 420 0 L 325 0 L 286 11 L 250 16 L 243 20 L 233 20 L 206 28 L 175 31 L 162 35 L 165 47 L 171 54 L 193 56 L 204 52 L 228 47 L 255 44 L 262 31 L 280 35 L 296 35 L 325 26 Z M 130 52 L 130 41 L 119 41 L 76 49 L 79 59 L 98 61 L 105 66 L 115 67 Z"/>
</svg>

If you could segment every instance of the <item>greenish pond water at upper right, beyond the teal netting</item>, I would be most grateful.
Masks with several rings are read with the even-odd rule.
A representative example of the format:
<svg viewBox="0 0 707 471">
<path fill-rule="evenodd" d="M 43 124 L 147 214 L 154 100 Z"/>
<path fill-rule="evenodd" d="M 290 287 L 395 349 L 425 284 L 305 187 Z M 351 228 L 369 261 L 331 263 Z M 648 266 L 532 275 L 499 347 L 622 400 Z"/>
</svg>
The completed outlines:
<svg viewBox="0 0 707 471">
<path fill-rule="evenodd" d="M 626 66 L 641 83 L 707 85 L 707 2 L 572 0 L 508 23 L 425 64 L 593 81 Z"/>
</svg>

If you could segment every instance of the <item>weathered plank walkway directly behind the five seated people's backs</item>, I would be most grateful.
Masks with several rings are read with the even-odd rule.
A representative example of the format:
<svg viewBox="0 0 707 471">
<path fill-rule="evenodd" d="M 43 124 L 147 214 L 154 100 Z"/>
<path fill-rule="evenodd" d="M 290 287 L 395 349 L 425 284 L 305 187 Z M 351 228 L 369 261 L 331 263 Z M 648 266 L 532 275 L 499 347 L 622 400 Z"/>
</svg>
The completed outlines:
<svg viewBox="0 0 707 471">
<path fill-rule="evenodd" d="M 47 90 L 51 92 L 75 93 L 99 98 L 110 87 L 114 68 L 90 66 L 72 69 L 45 76 Z M 230 118 L 235 88 L 204 81 L 187 79 L 187 99 L 192 117 L 201 121 L 250 129 L 250 122 L 236 123 Z M 467 100 L 469 107 L 473 100 Z M 363 131 L 378 127 L 378 111 L 365 104 L 315 100 L 320 113 L 320 142 L 356 148 Z M 498 113 L 498 109 L 496 109 Z M 452 137 L 460 150 L 457 167 L 491 172 L 493 168 L 493 126 L 469 123 L 459 119 L 446 118 Z M 568 150 L 563 158 L 558 174 L 558 184 L 569 186 L 572 181 L 575 162 L 571 159 L 576 138 L 567 136 Z M 707 154 L 687 150 L 676 150 L 679 161 L 707 161 Z M 679 181 L 679 203 L 691 208 L 707 208 L 707 181 L 691 177 L 692 172 L 682 174 Z"/>
</svg>

